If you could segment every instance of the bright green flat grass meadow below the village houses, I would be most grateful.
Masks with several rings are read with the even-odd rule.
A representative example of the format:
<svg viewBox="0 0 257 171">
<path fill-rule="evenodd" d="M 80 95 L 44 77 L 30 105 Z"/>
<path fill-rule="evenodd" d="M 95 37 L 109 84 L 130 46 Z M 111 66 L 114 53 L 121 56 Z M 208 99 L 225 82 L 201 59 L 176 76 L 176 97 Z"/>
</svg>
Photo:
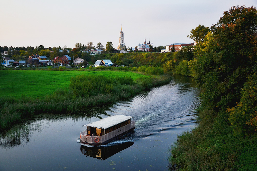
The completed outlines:
<svg viewBox="0 0 257 171">
<path fill-rule="evenodd" d="M 77 75 L 129 76 L 132 79 L 146 77 L 123 71 L 48 71 L 48 70 L 0 70 L 0 96 L 20 98 L 25 95 L 43 98 L 59 88 L 68 88 L 70 78 Z"/>
</svg>

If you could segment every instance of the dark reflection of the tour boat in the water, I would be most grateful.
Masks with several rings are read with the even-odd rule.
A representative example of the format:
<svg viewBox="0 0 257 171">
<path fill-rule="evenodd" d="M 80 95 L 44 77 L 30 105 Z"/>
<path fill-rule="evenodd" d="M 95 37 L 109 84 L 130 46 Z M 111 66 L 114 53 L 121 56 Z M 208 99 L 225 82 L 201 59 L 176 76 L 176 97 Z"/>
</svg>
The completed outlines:
<svg viewBox="0 0 257 171">
<path fill-rule="evenodd" d="M 105 160 L 108 157 L 132 146 L 133 142 L 125 142 L 122 144 L 112 145 L 112 146 L 95 146 L 95 147 L 87 147 L 80 146 L 80 151 L 82 154 L 90 157 L 94 157 L 97 159 Z"/>
</svg>

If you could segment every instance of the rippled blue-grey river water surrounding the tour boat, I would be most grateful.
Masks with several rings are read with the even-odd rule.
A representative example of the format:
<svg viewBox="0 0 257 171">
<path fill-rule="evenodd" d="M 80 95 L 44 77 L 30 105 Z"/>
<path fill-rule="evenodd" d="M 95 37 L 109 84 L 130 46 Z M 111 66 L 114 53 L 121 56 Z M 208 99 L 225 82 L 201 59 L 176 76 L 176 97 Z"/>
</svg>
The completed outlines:
<svg viewBox="0 0 257 171">
<path fill-rule="evenodd" d="M 42 114 L 0 138 L 0 170 L 168 170 L 177 134 L 196 125 L 200 99 L 191 79 L 175 75 L 167 85 L 76 116 Z M 83 125 L 114 114 L 133 116 L 135 130 L 99 147 L 79 142 Z"/>
</svg>

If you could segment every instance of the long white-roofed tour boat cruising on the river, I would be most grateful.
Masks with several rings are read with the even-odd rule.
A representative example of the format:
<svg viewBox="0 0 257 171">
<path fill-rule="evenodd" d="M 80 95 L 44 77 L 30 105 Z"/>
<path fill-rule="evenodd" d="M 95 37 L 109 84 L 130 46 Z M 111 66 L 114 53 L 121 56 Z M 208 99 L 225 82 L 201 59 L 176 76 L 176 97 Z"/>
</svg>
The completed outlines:
<svg viewBox="0 0 257 171">
<path fill-rule="evenodd" d="M 133 131 L 134 129 L 134 117 L 126 115 L 112 115 L 84 125 L 84 131 L 80 133 L 80 142 L 91 145 L 107 144 L 112 140 Z"/>
</svg>

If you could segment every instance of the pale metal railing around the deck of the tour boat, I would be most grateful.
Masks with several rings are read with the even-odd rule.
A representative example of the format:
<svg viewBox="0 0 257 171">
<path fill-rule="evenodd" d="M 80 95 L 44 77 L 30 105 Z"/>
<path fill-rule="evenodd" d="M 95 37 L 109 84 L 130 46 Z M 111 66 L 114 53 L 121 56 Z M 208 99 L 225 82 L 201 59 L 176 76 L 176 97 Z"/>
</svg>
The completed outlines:
<svg viewBox="0 0 257 171">
<path fill-rule="evenodd" d="M 109 132 L 102 136 L 88 136 L 87 131 L 82 131 L 81 134 L 81 141 L 91 144 L 101 144 L 111 138 L 114 138 L 117 135 L 120 135 L 131 128 L 135 127 L 135 121 L 132 121 L 130 124 L 124 125 L 123 127 L 120 127 L 118 129 L 113 130 L 112 132 Z"/>
</svg>

